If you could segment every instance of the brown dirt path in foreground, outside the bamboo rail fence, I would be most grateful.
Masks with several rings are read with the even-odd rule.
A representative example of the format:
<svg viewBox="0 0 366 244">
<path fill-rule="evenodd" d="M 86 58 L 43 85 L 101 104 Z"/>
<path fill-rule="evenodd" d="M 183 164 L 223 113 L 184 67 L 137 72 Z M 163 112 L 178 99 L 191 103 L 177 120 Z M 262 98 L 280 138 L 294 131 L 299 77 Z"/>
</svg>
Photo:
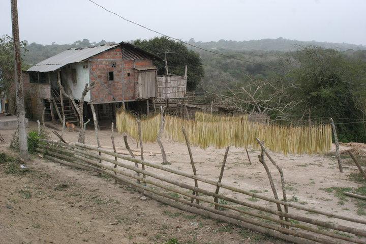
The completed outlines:
<svg viewBox="0 0 366 244">
<path fill-rule="evenodd" d="M 0 164 L 0 243 L 284 243 L 141 200 L 88 171 L 39 158 L 27 166 L 5 173 L 9 163 Z"/>
</svg>

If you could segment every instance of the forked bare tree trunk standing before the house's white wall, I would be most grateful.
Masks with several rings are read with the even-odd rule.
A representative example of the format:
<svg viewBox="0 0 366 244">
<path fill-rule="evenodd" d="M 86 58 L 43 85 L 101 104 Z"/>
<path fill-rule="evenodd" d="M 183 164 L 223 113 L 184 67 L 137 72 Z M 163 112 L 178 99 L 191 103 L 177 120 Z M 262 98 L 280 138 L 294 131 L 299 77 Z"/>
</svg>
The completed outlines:
<svg viewBox="0 0 366 244">
<path fill-rule="evenodd" d="M 85 84 L 84 90 L 83 90 L 83 92 L 81 94 L 81 98 L 79 100 L 79 104 L 76 104 L 74 98 L 65 92 L 64 86 L 61 84 L 61 79 L 60 79 L 59 72 L 57 73 L 57 76 L 58 76 L 57 83 L 58 83 L 58 87 L 60 89 L 60 94 L 63 94 L 65 97 L 67 97 L 68 99 L 70 99 L 70 101 L 72 102 L 72 104 L 75 107 L 76 112 L 79 115 L 79 127 L 80 127 L 80 131 L 79 131 L 78 142 L 84 143 L 84 139 L 85 139 L 85 129 L 83 128 L 83 126 L 84 126 L 84 117 L 83 117 L 84 101 L 85 101 L 85 96 L 89 92 L 90 87 L 93 86 L 93 83 L 91 83 L 90 86 L 89 86 L 88 83 Z M 86 126 L 86 124 L 87 123 L 85 123 L 85 126 Z"/>
</svg>

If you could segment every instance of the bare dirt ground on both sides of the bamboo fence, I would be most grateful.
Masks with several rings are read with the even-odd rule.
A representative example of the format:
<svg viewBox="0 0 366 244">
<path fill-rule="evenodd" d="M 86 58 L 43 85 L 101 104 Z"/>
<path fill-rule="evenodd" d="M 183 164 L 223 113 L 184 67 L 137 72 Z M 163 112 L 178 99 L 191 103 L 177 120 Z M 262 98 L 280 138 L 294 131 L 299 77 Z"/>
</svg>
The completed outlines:
<svg viewBox="0 0 366 244">
<path fill-rule="evenodd" d="M 29 122 L 31 128 L 36 124 Z M 53 126 L 60 129 L 59 126 Z M 103 128 L 102 128 L 103 129 Z M 48 128 L 51 132 L 52 129 Z M 14 131 L 0 131 L 5 143 L 0 152 L 15 155 L 8 148 Z M 49 133 L 52 139 L 56 137 Z M 77 132 L 66 132 L 67 141 L 77 141 Z M 111 148 L 110 130 L 99 132 L 102 147 Z M 136 141 L 129 137 L 132 149 Z M 115 133 L 117 150 L 123 150 L 122 135 Z M 86 131 L 85 143 L 96 145 L 93 130 Z M 169 167 L 191 172 L 185 144 L 164 139 Z M 341 146 L 341 149 L 349 147 Z M 144 144 L 145 160 L 160 163 L 159 146 Z M 197 174 L 217 180 L 225 149 L 192 147 Z M 231 147 L 223 182 L 241 189 L 272 197 L 258 151 L 249 150 L 249 164 L 243 148 Z M 356 166 L 344 159 L 344 173 L 340 173 L 337 160 L 324 155 L 289 155 L 271 153 L 283 168 L 287 182 L 288 199 L 307 207 L 337 212 L 354 218 L 364 218 L 364 205 L 340 196 L 339 189 L 362 187 L 350 179 L 357 172 Z M 137 156 L 138 157 L 138 156 Z M 343 156 L 346 157 L 346 156 Z M 31 172 L 7 174 L 6 164 L 0 164 L 0 243 L 284 243 L 270 237 L 238 228 L 226 223 L 195 216 L 174 209 L 155 200 L 140 200 L 141 195 L 122 185 L 114 185 L 113 179 L 97 177 L 90 172 L 75 170 L 45 159 L 32 157 L 27 164 Z M 275 167 L 270 167 L 280 197 L 281 182 Z M 177 177 L 179 178 L 179 177 Z M 180 178 L 180 180 L 186 180 Z M 189 182 L 189 181 L 187 181 Z M 192 184 L 192 182 L 189 182 Z M 210 189 L 204 186 L 205 189 Z M 220 190 L 226 196 L 268 205 L 257 198 L 232 194 Z M 232 194 L 232 195 L 231 195 Z M 291 209 L 297 212 L 300 210 Z M 303 213 L 303 212 L 302 212 Z M 312 215 L 312 218 L 329 221 Z M 339 221 L 350 225 L 350 223 Z M 362 226 L 351 224 L 353 227 Z"/>
</svg>

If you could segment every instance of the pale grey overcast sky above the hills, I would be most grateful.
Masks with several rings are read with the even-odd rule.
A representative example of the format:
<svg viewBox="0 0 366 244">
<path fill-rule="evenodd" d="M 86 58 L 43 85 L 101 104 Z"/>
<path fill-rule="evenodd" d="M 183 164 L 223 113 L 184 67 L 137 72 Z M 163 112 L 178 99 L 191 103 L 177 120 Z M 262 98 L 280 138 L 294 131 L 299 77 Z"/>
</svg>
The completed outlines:
<svg viewBox="0 0 366 244">
<path fill-rule="evenodd" d="M 366 0 L 94 0 L 166 35 L 196 41 L 346 42 L 366 45 Z M 157 36 L 88 0 L 18 0 L 20 39 L 42 44 L 129 41 Z M 10 0 L 0 1 L 0 35 L 11 35 Z"/>
</svg>

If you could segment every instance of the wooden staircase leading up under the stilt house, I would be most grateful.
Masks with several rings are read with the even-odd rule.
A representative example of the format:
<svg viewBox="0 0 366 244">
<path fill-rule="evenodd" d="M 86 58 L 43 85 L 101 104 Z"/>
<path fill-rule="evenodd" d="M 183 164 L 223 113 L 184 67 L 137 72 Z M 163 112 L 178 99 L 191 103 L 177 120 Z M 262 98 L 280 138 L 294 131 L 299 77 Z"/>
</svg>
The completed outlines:
<svg viewBox="0 0 366 244">
<path fill-rule="evenodd" d="M 76 112 L 74 105 L 69 98 L 63 98 L 64 111 L 62 108 L 61 98 L 56 90 L 52 89 L 52 102 L 58 115 L 58 122 L 63 123 L 63 114 L 65 114 L 65 121 L 73 124 L 79 123 L 79 114 Z M 56 119 L 57 121 L 57 119 Z"/>
</svg>

